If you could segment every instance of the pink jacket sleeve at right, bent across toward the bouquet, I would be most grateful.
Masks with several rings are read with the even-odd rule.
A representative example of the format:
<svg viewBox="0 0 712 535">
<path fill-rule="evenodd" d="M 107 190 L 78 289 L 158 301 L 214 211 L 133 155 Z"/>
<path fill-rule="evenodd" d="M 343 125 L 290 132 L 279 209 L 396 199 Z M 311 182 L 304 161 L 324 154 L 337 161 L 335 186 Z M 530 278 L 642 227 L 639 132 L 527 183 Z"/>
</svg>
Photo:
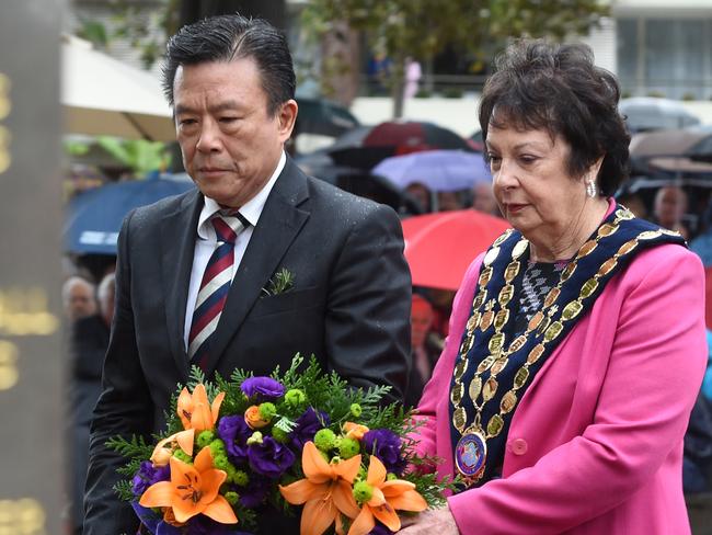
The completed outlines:
<svg viewBox="0 0 712 535">
<path fill-rule="evenodd" d="M 681 447 L 707 362 L 703 270 L 680 247 L 643 254 L 623 275 L 629 294 L 611 319 L 616 337 L 592 423 L 533 466 L 450 497 L 463 533 L 564 532 L 628 500 Z M 427 402 L 433 388 L 426 394 Z M 665 483 L 680 483 L 671 479 Z"/>
</svg>

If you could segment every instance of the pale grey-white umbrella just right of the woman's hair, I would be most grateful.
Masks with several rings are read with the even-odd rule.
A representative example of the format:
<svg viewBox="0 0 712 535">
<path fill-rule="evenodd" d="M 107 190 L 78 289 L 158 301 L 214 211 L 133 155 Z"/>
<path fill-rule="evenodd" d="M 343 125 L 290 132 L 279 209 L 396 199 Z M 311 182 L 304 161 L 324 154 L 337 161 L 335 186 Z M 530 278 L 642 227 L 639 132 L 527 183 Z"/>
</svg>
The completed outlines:
<svg viewBox="0 0 712 535">
<path fill-rule="evenodd" d="M 682 128 L 700 124 L 699 117 L 681 103 L 667 99 L 634 96 L 623 99 L 618 105 L 631 132 L 662 128 Z"/>
</svg>

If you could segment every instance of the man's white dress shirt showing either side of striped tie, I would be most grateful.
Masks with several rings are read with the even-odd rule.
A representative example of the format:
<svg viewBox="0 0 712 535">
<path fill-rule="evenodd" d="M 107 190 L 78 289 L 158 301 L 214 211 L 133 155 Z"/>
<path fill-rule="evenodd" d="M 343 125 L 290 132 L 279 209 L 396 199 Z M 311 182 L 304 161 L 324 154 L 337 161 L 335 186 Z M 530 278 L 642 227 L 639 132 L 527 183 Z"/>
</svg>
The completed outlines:
<svg viewBox="0 0 712 535">
<path fill-rule="evenodd" d="M 240 266 L 240 261 L 244 251 L 248 249 L 248 243 L 250 243 L 250 238 L 252 238 L 252 232 L 254 231 L 269 192 L 277 181 L 277 177 L 282 173 L 282 170 L 285 168 L 287 162 L 287 157 L 285 152 L 282 152 L 279 157 L 279 163 L 277 168 L 272 173 L 272 177 L 267 183 L 257 192 L 257 194 L 248 201 L 240 208 L 240 215 L 243 216 L 250 226 L 245 228 L 242 232 L 238 235 L 238 238 L 234 242 L 234 262 L 232 263 L 232 277 Z M 183 331 L 183 341 L 185 343 L 185 349 L 187 351 L 188 346 L 188 334 L 191 333 L 191 323 L 193 322 L 193 312 L 195 311 L 195 300 L 198 296 L 198 291 L 200 289 L 200 282 L 203 281 L 203 273 L 205 268 L 208 265 L 208 261 L 213 255 L 213 251 L 216 248 L 217 239 L 215 236 L 215 229 L 210 224 L 210 218 L 216 212 L 221 209 L 220 205 L 216 203 L 213 198 L 205 197 L 205 204 L 200 210 L 200 216 L 198 217 L 198 239 L 195 240 L 195 252 L 193 253 L 193 269 L 191 270 L 191 285 L 188 287 L 188 300 L 185 307 L 185 328 Z"/>
</svg>

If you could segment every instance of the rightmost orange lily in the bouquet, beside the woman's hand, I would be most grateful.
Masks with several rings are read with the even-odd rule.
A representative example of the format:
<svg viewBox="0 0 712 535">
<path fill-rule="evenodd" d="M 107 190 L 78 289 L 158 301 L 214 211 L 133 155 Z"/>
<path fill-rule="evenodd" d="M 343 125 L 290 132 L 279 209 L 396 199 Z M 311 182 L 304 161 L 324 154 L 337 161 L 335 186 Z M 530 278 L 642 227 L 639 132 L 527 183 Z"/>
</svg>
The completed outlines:
<svg viewBox="0 0 712 535">
<path fill-rule="evenodd" d="M 376 526 L 378 519 L 391 532 L 401 528 L 401 519 L 395 510 L 421 512 L 427 502 L 415 490 L 415 485 L 403 479 L 386 480 L 383 463 L 371 455 L 366 482 L 374 489 L 371 499 L 364 503 L 360 513 L 348 530 L 348 535 L 366 535 Z"/>
</svg>

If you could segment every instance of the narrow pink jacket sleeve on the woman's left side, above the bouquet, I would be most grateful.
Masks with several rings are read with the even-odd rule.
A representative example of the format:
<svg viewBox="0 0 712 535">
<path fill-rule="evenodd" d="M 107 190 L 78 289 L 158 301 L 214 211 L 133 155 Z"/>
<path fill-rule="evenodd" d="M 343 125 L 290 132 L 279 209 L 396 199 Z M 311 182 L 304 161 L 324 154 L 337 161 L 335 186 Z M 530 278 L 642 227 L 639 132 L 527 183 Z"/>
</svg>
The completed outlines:
<svg viewBox="0 0 712 535">
<path fill-rule="evenodd" d="M 450 389 L 450 379 L 452 378 L 455 358 L 457 357 L 460 348 L 460 339 L 464 331 L 464 325 L 467 323 L 472 309 L 474 287 L 478 282 L 483 257 L 483 254 L 479 255 L 470 264 L 468 271 L 462 277 L 460 289 L 452 301 L 452 314 L 450 315 L 450 327 L 448 330 L 449 335 L 445 341 L 445 349 L 435 365 L 433 377 L 430 377 L 430 380 L 423 389 L 423 396 L 417 406 L 418 416 L 416 419 L 424 422 L 423 426 L 418 428 L 417 433 L 412 435 L 412 437 L 417 441 L 416 451 L 418 454 L 436 454 L 435 412 L 443 396 L 447 396 L 447 392 Z"/>
</svg>

